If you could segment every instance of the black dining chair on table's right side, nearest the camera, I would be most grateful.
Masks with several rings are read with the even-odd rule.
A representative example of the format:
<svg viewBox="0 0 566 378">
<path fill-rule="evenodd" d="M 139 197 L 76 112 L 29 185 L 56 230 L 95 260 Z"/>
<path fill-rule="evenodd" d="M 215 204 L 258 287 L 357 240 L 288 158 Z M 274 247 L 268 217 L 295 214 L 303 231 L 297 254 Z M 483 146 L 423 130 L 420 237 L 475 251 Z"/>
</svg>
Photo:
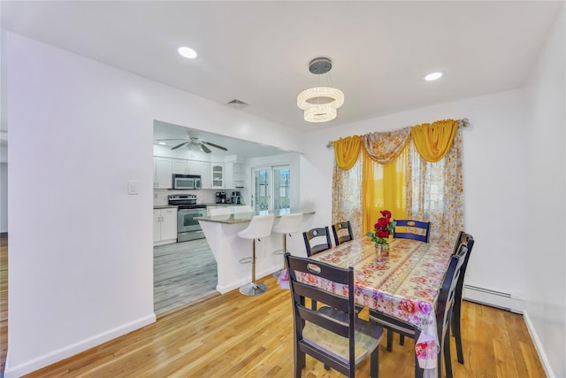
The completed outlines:
<svg viewBox="0 0 566 378">
<path fill-rule="evenodd" d="M 444 355 L 444 365 L 446 366 L 446 376 L 452 378 L 452 360 L 450 356 L 450 322 L 452 320 L 452 310 L 455 302 L 455 289 L 460 275 L 462 274 L 462 266 L 468 254 L 465 246 L 460 248 L 458 254 L 452 255 L 448 264 L 447 272 L 440 287 L 440 294 L 435 311 L 437 336 L 440 343 L 440 355 L 438 357 L 437 374 L 442 377 L 442 355 Z M 370 320 L 375 321 L 387 332 L 394 330 L 402 336 L 407 336 L 415 340 L 417 343 L 420 336 L 420 330 L 416 326 L 393 316 L 386 315 L 383 312 L 377 312 L 370 309 Z M 392 351 L 392 340 L 387 337 L 387 351 Z M 423 369 L 418 365 L 417 354 L 415 354 L 415 378 L 421 378 L 424 374 Z"/>
</svg>

